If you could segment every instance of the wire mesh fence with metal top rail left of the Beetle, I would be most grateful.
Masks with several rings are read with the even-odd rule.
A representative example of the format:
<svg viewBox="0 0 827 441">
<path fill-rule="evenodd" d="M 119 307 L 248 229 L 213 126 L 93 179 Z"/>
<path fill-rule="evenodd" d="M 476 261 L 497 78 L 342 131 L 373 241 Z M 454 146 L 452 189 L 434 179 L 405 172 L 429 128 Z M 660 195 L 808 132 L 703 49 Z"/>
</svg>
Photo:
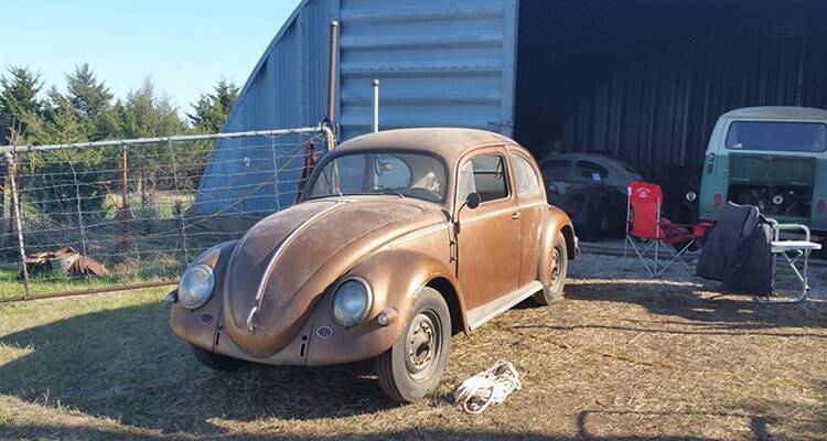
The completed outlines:
<svg viewBox="0 0 827 441">
<path fill-rule="evenodd" d="M 321 128 L 2 147 L 0 301 L 172 284 L 292 205 Z"/>
</svg>

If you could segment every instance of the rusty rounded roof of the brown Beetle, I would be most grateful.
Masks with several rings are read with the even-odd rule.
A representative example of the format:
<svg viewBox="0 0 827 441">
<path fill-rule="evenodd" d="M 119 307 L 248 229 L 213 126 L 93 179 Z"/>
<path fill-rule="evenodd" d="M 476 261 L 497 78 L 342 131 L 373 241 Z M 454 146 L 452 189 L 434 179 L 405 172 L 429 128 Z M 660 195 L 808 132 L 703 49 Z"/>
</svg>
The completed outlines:
<svg viewBox="0 0 827 441">
<path fill-rule="evenodd" d="M 500 133 L 459 128 L 397 129 L 368 133 L 343 142 L 336 151 L 417 150 L 436 154 L 453 163 L 469 151 L 484 146 L 514 146 L 527 152 Z"/>
</svg>

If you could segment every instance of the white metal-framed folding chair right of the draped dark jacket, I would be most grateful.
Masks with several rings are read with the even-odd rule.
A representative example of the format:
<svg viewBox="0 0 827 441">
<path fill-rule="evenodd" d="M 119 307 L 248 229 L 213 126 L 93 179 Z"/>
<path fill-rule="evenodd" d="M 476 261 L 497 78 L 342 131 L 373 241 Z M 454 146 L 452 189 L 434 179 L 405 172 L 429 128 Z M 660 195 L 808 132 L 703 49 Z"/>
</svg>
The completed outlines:
<svg viewBox="0 0 827 441">
<path fill-rule="evenodd" d="M 778 262 L 778 255 L 784 256 L 785 263 L 793 270 L 793 273 L 798 278 L 802 283 L 801 294 L 794 298 L 782 298 L 782 299 L 770 299 L 759 298 L 755 300 L 760 303 L 798 303 L 808 300 L 809 297 L 809 284 L 807 283 L 807 265 L 809 261 L 810 251 L 821 249 L 821 245 L 814 243 L 809 237 L 809 228 L 806 225 L 801 224 L 778 224 L 775 219 L 766 219 L 773 228 L 773 240 L 770 243 L 770 248 L 773 255 L 773 277 L 776 276 L 775 269 Z M 799 230 L 804 233 L 804 240 L 782 240 L 781 232 Z M 804 260 L 802 263 L 802 270 L 798 270 L 798 260 Z M 773 280 L 773 286 L 775 280 Z"/>
</svg>

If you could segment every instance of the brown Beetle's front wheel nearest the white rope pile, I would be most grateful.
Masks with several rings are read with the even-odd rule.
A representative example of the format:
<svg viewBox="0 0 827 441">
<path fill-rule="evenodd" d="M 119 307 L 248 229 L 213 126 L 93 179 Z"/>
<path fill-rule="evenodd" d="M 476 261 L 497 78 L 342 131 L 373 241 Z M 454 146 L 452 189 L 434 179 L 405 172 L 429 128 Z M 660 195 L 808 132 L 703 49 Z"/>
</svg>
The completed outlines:
<svg viewBox="0 0 827 441">
<path fill-rule="evenodd" d="M 451 352 L 451 315 L 437 290 L 423 288 L 410 316 L 394 346 L 376 358 L 382 389 L 400 402 L 436 389 Z"/>
</svg>

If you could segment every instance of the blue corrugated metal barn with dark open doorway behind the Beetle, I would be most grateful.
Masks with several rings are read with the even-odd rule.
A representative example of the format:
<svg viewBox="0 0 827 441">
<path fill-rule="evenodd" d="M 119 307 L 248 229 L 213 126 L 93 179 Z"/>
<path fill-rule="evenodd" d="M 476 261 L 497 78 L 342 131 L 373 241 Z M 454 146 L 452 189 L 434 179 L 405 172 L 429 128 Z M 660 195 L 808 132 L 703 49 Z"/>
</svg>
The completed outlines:
<svg viewBox="0 0 827 441">
<path fill-rule="evenodd" d="M 827 3 L 815 0 L 304 0 L 225 130 L 316 125 L 337 20 L 341 139 L 369 130 L 378 78 L 383 129 L 482 128 L 537 157 L 605 152 L 663 181 L 699 166 L 727 110 L 827 107 L 825 17 Z M 247 154 L 228 141 L 211 168 L 241 166 L 234 159 Z M 201 183 L 200 209 L 218 209 L 208 203 L 218 179 Z M 246 208 L 288 202 L 267 196 Z"/>
</svg>

